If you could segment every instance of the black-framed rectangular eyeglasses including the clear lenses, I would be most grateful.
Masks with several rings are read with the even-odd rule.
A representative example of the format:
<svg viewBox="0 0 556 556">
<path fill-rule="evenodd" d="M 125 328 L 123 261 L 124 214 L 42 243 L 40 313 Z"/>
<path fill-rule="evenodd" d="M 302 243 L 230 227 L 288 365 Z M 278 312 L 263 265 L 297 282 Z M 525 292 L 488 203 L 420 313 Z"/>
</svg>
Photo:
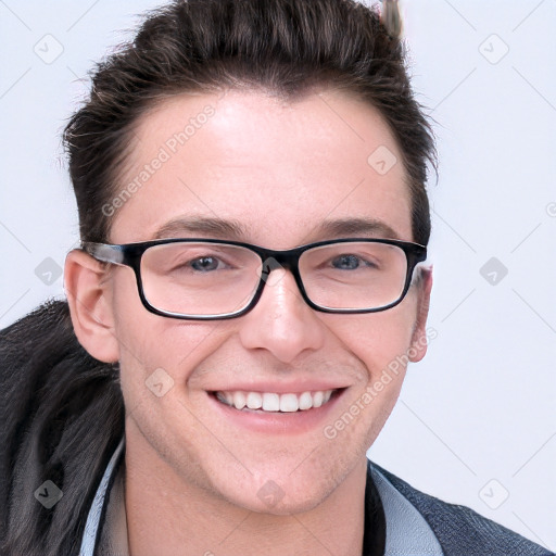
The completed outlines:
<svg viewBox="0 0 556 556">
<path fill-rule="evenodd" d="M 98 261 L 134 269 L 144 307 L 180 319 L 235 318 L 251 311 L 276 273 L 293 274 L 305 302 L 324 313 L 376 313 L 406 295 L 427 248 L 392 239 L 336 239 L 287 251 L 217 239 L 83 244 Z M 281 276 L 281 274 L 280 274 Z"/>
</svg>

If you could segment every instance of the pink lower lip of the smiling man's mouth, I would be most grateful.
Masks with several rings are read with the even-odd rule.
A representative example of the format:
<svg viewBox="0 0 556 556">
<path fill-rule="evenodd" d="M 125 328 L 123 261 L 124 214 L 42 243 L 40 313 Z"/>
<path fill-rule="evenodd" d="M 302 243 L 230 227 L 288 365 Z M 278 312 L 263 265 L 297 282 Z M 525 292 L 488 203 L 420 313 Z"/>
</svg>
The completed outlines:
<svg viewBox="0 0 556 556">
<path fill-rule="evenodd" d="M 300 434 L 324 426 L 330 419 L 330 413 L 339 403 L 346 389 L 334 392 L 320 407 L 298 412 L 263 412 L 255 409 L 236 409 L 219 402 L 214 393 L 208 393 L 210 403 L 220 412 L 227 421 L 252 431 L 264 433 Z"/>
</svg>

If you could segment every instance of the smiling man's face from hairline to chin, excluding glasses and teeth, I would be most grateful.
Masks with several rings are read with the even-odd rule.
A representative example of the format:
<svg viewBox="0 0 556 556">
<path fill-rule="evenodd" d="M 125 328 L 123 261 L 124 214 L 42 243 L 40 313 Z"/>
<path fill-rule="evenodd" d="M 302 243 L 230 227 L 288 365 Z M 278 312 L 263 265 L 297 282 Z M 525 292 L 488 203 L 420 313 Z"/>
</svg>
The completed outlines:
<svg viewBox="0 0 556 556">
<path fill-rule="evenodd" d="M 110 241 L 216 238 L 276 250 L 339 237 L 413 241 L 403 165 L 378 172 L 368 162 L 378 148 L 402 160 L 378 112 L 338 92 L 294 103 L 239 91 L 165 100 L 135 129 L 122 184 L 149 177 L 113 216 Z M 200 224 L 207 218 L 241 233 Z M 353 218 L 379 226 L 323 229 Z M 279 514 L 315 507 L 365 460 L 404 378 L 404 364 L 392 363 L 425 354 L 431 279 L 425 273 L 388 311 L 334 315 L 307 306 L 289 271 L 274 274 L 250 313 L 203 323 L 149 313 L 132 270 L 111 266 L 102 295 L 112 340 L 101 355 L 109 343 L 121 362 L 128 463 L 215 501 Z M 153 377 L 164 395 L 148 388 Z M 283 414 L 214 395 L 329 390 L 320 408 Z M 268 490 L 278 494 L 273 507 Z"/>
</svg>

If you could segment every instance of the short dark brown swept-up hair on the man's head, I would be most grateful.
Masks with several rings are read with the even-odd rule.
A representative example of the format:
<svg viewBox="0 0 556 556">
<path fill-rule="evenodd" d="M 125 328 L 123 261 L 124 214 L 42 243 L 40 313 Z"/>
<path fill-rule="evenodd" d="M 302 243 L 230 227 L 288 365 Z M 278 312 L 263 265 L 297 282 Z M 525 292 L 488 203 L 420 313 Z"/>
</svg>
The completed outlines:
<svg viewBox="0 0 556 556">
<path fill-rule="evenodd" d="M 354 0 L 177 0 L 151 12 L 132 42 L 98 64 L 90 98 L 64 132 L 81 240 L 108 240 L 102 206 L 121 188 L 132 125 L 160 99 L 263 88 L 294 100 L 334 87 L 378 109 L 393 131 L 408 177 L 413 237 L 427 244 L 425 184 L 427 162 L 437 169 L 435 147 L 395 34 L 377 8 Z"/>
</svg>

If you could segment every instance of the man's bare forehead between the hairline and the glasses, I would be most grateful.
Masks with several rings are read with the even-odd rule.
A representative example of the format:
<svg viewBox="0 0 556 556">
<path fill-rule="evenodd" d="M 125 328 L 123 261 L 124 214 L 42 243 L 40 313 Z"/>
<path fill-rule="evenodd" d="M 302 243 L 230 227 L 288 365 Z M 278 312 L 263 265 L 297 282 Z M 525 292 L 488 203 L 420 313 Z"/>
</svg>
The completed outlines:
<svg viewBox="0 0 556 556">
<path fill-rule="evenodd" d="M 315 236 L 330 229 L 324 222 L 350 218 L 412 239 L 391 130 L 376 109 L 332 91 L 295 102 L 235 90 L 166 99 L 134 129 L 122 192 L 114 242 L 188 218 L 237 223 L 243 240 L 276 249 L 326 239 Z"/>
</svg>

